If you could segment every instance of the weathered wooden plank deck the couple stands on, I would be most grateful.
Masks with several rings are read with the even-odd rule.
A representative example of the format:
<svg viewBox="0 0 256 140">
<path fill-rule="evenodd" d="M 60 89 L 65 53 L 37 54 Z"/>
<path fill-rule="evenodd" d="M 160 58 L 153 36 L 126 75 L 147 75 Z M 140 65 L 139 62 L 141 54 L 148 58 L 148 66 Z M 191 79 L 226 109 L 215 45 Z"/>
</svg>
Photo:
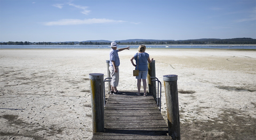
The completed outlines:
<svg viewBox="0 0 256 140">
<path fill-rule="evenodd" d="M 152 95 L 121 92 L 108 96 L 104 109 L 105 132 L 94 133 L 92 140 L 170 140 L 168 126 Z"/>
</svg>

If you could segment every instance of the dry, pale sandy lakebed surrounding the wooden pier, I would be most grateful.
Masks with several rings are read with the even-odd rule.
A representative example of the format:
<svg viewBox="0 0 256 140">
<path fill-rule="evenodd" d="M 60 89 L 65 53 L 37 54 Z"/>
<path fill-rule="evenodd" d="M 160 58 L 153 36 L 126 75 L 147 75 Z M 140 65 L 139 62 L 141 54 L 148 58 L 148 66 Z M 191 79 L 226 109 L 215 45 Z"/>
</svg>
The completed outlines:
<svg viewBox="0 0 256 140">
<path fill-rule="evenodd" d="M 147 49 L 156 77 L 178 75 L 183 140 L 244 139 L 256 134 L 256 52 Z M 90 73 L 107 78 L 109 49 L 1 49 L 0 139 L 90 140 Z M 119 53 L 118 90 L 137 90 L 130 59 Z M 107 86 L 106 86 L 106 90 Z M 167 121 L 164 87 L 162 114 Z"/>
</svg>

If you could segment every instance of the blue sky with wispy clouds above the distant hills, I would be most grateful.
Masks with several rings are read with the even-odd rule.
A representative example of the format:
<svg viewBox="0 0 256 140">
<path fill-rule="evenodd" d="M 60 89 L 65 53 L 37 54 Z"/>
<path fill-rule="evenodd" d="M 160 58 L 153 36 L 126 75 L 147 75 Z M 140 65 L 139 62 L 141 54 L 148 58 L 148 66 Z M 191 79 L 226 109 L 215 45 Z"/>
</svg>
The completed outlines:
<svg viewBox="0 0 256 140">
<path fill-rule="evenodd" d="M 255 0 L 0 0 L 0 41 L 256 39 Z"/>
</svg>

